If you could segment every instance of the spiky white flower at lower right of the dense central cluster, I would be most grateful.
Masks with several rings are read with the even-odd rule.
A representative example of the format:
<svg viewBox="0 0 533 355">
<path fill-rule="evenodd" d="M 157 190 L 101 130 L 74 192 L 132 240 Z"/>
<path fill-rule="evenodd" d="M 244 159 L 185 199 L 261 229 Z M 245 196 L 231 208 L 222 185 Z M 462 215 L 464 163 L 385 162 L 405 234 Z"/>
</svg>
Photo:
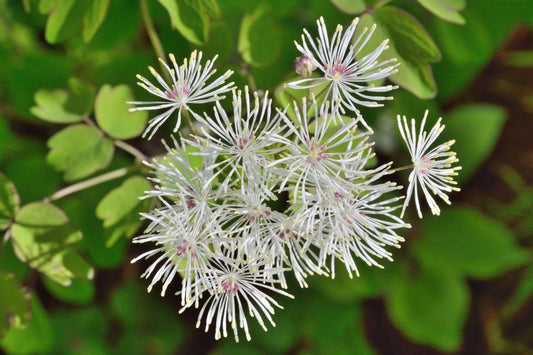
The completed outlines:
<svg viewBox="0 0 533 355">
<path fill-rule="evenodd" d="M 302 205 L 300 229 L 311 235 L 308 244 L 319 250 L 319 267 L 325 267 L 330 259 L 329 270 L 335 277 L 335 259 L 346 266 L 350 277 L 352 271 L 359 275 L 355 259 L 360 258 L 366 264 L 382 267 L 377 259 L 392 261 L 386 246 L 399 248 L 403 238 L 396 229 L 409 228 L 394 215 L 400 208 L 396 204 L 403 197 L 385 197 L 400 189 L 394 183 L 372 184 L 375 177 L 389 174 L 389 164 L 371 170 L 370 176 L 351 183 L 350 193 L 326 191 L 315 194 L 306 205 Z"/>
</svg>

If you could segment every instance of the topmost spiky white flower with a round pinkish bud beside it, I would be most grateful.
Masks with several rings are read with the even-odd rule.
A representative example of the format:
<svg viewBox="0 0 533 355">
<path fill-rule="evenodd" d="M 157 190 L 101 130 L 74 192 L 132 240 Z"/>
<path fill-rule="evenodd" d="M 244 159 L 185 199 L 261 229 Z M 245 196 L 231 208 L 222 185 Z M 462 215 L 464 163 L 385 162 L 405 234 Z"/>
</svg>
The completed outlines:
<svg viewBox="0 0 533 355">
<path fill-rule="evenodd" d="M 331 40 L 322 17 L 317 21 L 319 38 L 316 38 L 316 42 L 304 29 L 302 44 L 295 42 L 296 48 L 302 53 L 302 58 L 307 62 L 311 60 L 307 67 L 318 68 L 322 75 L 318 78 L 304 76 L 303 79 L 291 82 L 287 86 L 294 89 L 308 89 L 326 84 L 327 89 L 321 108 L 324 108 L 325 102 L 329 100 L 333 111 L 337 111 L 341 106 L 352 112 L 358 112 L 357 105 L 377 107 L 382 105 L 376 101 L 392 99 L 388 96 L 375 96 L 373 93 L 388 92 L 397 88 L 396 86 L 375 86 L 370 83 L 396 73 L 398 64 L 393 64 L 396 59 L 378 61 L 378 57 L 388 48 L 387 40 L 369 54 L 358 58 L 375 29 L 375 25 L 369 32 L 365 28 L 354 40 L 358 21 L 358 18 L 354 19 L 344 34 L 342 26 L 337 26 Z"/>
</svg>

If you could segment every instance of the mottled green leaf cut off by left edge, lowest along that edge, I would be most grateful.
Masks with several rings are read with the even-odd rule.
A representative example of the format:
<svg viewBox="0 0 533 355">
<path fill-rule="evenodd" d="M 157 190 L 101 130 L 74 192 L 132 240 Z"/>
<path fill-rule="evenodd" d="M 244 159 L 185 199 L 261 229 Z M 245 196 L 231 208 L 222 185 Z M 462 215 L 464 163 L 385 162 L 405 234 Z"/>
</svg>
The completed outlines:
<svg viewBox="0 0 533 355">
<path fill-rule="evenodd" d="M 25 328 L 31 319 L 31 295 L 10 272 L 0 270 L 0 339 L 10 327 Z"/>
</svg>

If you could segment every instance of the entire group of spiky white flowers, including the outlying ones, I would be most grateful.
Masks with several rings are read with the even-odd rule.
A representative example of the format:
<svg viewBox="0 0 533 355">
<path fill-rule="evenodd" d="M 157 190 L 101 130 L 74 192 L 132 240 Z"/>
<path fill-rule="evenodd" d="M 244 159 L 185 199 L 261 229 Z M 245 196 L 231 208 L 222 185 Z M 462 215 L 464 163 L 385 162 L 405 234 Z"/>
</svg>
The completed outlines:
<svg viewBox="0 0 533 355">
<path fill-rule="evenodd" d="M 273 109 L 268 92 L 237 90 L 225 82 L 230 72 L 211 80 L 214 60 L 202 67 L 196 52 L 181 67 L 170 56 L 170 85 L 151 69 L 162 89 L 139 76 L 161 101 L 134 102 L 141 106 L 132 110 L 165 110 L 146 133 L 153 135 L 176 110 L 177 128 L 182 110 L 202 128 L 147 163 L 154 189 L 146 197 L 159 207 L 143 214 L 151 223 L 134 242 L 155 247 L 132 262 L 155 258 L 143 276 L 151 278 L 148 290 L 161 282 L 162 295 L 180 279 L 181 311 L 199 308 L 197 326 L 203 321 L 207 331 L 214 323 L 217 339 L 230 327 L 236 341 L 239 328 L 250 340 L 247 315 L 265 330 L 265 319 L 274 325 L 274 308 L 282 308 L 274 297 L 292 298 L 288 275 L 306 287 L 310 275 L 335 277 L 338 262 L 350 277 L 358 275 L 358 259 L 381 267 L 380 259 L 392 260 L 387 248 L 403 241 L 399 230 L 410 227 L 402 218 L 413 191 L 421 216 L 418 187 L 434 214 L 439 209 L 430 192 L 449 203 L 445 192 L 457 190 L 451 187 L 458 170 L 451 167 L 453 142 L 430 147 L 444 127 L 440 121 L 426 135 L 424 117 L 417 136 L 414 120 L 410 129 L 399 119 L 413 159 L 402 207 L 402 187 L 388 180 L 391 163 L 372 163 L 373 132 L 357 110 L 379 106 L 389 97 L 374 93 L 395 88 L 371 84 L 397 70 L 393 60 L 378 61 L 387 43 L 359 58 L 374 28 L 354 38 L 356 19 L 330 38 L 323 19 L 317 23 L 319 38 L 304 31 L 296 43 L 301 56 L 293 65 L 303 79 L 288 86 L 324 89 L 293 107 Z M 220 102 L 229 92 L 231 114 Z M 215 102 L 212 113 L 192 111 L 206 102 Z"/>
</svg>

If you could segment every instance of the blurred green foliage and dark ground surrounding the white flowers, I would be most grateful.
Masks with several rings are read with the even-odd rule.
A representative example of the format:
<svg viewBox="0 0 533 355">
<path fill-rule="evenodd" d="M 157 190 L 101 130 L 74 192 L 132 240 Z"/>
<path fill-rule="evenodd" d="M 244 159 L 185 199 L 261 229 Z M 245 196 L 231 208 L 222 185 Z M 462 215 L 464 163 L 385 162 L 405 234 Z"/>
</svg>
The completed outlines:
<svg viewBox="0 0 533 355">
<path fill-rule="evenodd" d="M 218 54 L 237 85 L 269 90 L 283 106 L 293 41 L 320 16 L 330 29 L 355 16 L 377 23 L 373 43 L 390 38 L 385 55 L 402 63 L 394 101 L 362 112 L 379 159 L 406 160 L 395 116 L 420 119 L 428 108 L 457 141 L 462 191 L 440 217 L 409 220 L 384 270 L 293 284 L 277 327 L 256 324 L 250 343 L 215 342 L 193 311 L 178 315 L 172 293 L 146 293 L 145 265 L 129 263 L 143 250 L 129 238 L 150 204 L 136 198 L 149 188 L 139 162 L 162 145 L 138 137 L 147 115 L 125 101 L 147 99 L 135 75 L 158 65 L 154 31 L 165 53 Z M 532 26 L 529 0 L 0 0 L 0 347 L 533 352 Z M 95 186 L 66 196 L 87 181 Z"/>
</svg>

